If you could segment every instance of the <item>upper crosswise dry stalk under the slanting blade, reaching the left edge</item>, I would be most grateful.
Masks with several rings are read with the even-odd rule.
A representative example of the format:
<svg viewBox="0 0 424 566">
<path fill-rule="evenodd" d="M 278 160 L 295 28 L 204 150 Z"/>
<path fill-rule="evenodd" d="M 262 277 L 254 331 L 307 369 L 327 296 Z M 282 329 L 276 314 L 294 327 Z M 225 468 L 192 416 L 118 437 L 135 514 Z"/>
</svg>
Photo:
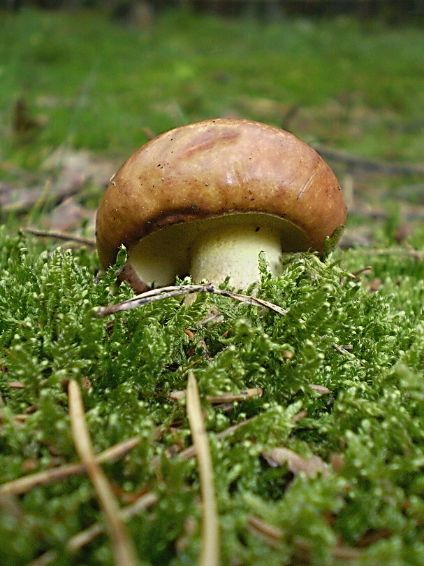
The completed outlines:
<svg viewBox="0 0 424 566">
<path fill-rule="evenodd" d="M 140 439 L 138 437 L 132 437 L 115 446 L 107 448 L 105 451 L 96 454 L 97 462 L 112 462 L 117 460 L 117 458 L 122 458 L 126 453 L 128 453 L 134 446 L 139 444 Z M 75 476 L 76 474 L 83 474 L 85 472 L 85 464 L 78 462 L 76 464 L 65 464 L 63 466 L 47 469 L 43 472 L 36 472 L 36 474 L 30 474 L 19 479 L 14 479 L 13 481 L 8 481 L 0 486 L 1 493 L 15 493 L 16 495 L 20 493 L 27 493 L 31 489 L 38 486 L 44 486 L 46 483 L 52 483 L 53 481 L 58 481 L 61 479 L 68 478 L 70 476 Z"/>
</svg>

